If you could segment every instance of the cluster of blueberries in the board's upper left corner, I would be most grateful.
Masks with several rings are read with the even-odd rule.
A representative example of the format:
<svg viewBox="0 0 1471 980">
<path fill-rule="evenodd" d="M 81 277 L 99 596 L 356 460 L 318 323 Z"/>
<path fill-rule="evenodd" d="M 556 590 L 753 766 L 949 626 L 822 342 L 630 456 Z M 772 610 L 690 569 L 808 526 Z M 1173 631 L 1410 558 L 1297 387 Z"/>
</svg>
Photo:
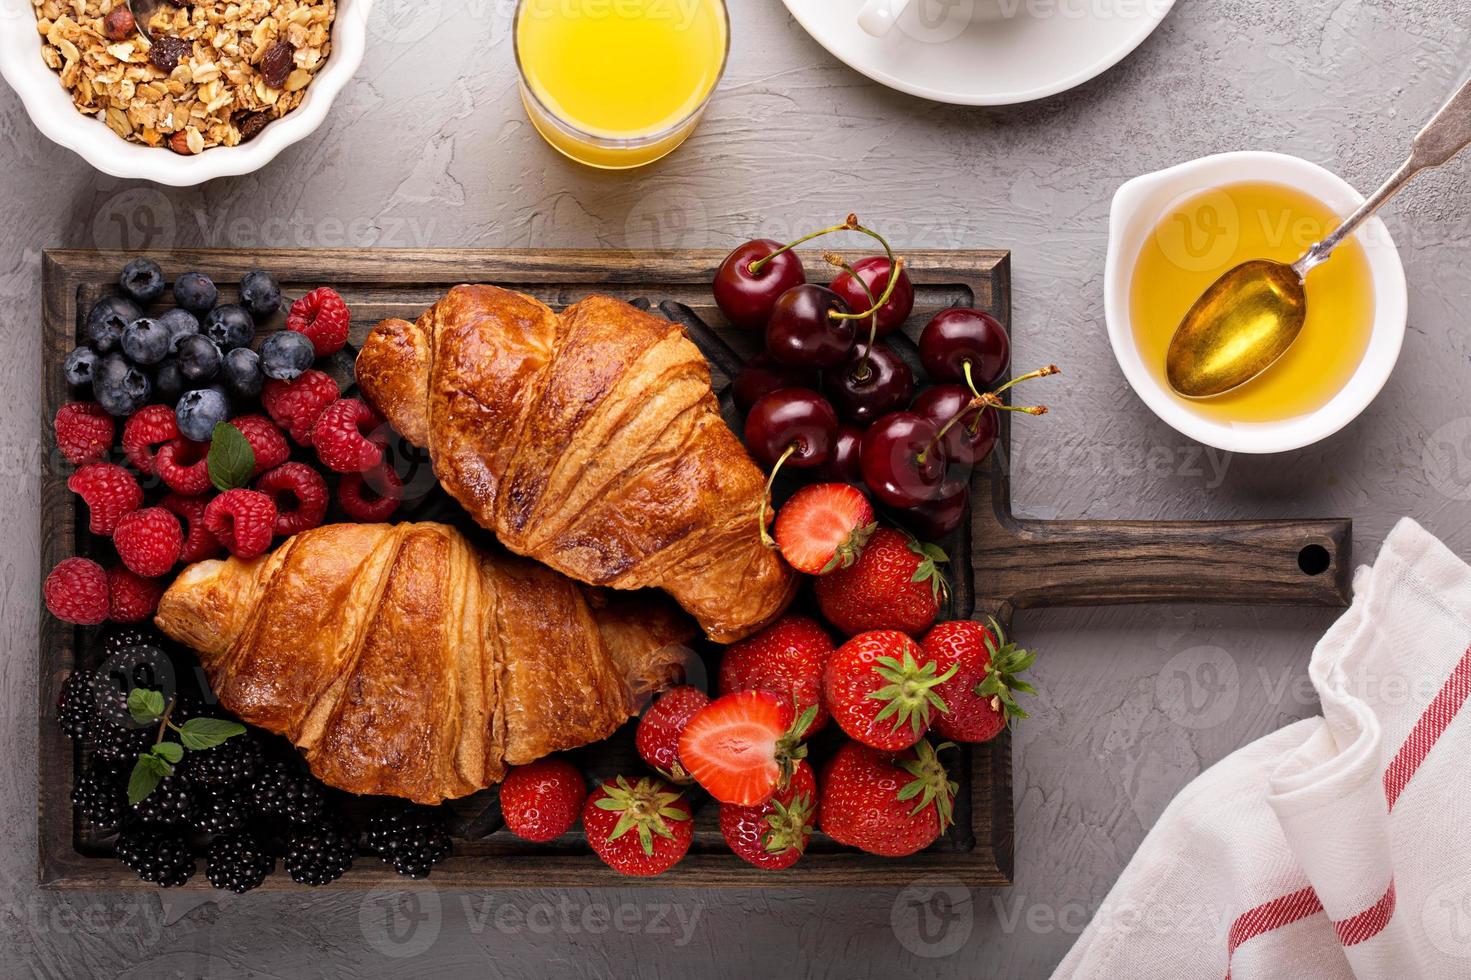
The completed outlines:
<svg viewBox="0 0 1471 980">
<path fill-rule="evenodd" d="M 168 283 L 152 259 L 134 259 L 118 277 L 116 296 L 87 313 L 87 343 L 66 356 L 66 380 L 91 388 L 109 413 L 125 418 L 149 402 L 172 405 L 179 433 L 207 441 L 229 418 L 231 399 L 259 397 L 266 378 L 293 381 L 312 366 L 312 341 L 296 331 L 275 331 L 252 349 L 259 324 L 281 309 L 281 287 L 269 272 L 247 272 L 240 302 L 221 303 L 219 288 L 199 272 L 174 283 L 177 306 L 157 315 Z"/>
</svg>

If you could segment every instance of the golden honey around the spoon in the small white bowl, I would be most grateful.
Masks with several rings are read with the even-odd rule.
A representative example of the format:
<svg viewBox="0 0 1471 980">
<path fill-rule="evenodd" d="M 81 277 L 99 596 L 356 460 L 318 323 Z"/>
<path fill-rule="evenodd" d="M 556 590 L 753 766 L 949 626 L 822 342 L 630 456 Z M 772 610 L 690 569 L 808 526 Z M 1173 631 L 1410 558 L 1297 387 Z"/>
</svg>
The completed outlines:
<svg viewBox="0 0 1471 980">
<path fill-rule="evenodd" d="M 1130 312 L 1139 352 L 1165 390 L 1165 352 L 1190 310 L 1224 272 L 1252 259 L 1292 263 L 1339 227 L 1322 202 L 1269 182 L 1228 184 L 1174 203 L 1134 265 Z M 1259 377 L 1209 399 L 1177 397 L 1227 422 L 1277 422 L 1327 405 L 1353 377 L 1374 328 L 1368 253 L 1349 238 L 1306 281 L 1308 322 Z"/>
</svg>

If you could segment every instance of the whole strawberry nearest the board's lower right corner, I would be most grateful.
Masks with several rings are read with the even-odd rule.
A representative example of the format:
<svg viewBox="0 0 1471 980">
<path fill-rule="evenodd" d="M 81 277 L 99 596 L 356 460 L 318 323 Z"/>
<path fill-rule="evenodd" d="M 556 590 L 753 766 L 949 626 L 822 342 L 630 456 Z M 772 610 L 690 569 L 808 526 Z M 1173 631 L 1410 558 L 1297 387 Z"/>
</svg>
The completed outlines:
<svg viewBox="0 0 1471 980">
<path fill-rule="evenodd" d="M 955 793 L 938 752 L 919 742 L 905 752 L 846 743 L 822 770 L 818 825 L 838 843 L 903 858 L 928 848 L 953 823 Z"/>
</svg>

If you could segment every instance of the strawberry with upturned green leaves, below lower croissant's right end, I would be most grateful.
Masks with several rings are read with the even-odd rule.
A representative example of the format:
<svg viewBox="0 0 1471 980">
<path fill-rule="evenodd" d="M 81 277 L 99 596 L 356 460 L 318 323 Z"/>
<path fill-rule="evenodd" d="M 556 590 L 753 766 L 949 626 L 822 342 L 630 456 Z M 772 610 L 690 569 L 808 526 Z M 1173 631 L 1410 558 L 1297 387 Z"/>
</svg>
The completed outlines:
<svg viewBox="0 0 1471 980">
<path fill-rule="evenodd" d="M 694 840 L 694 814 L 684 795 L 663 780 L 603 783 L 583 806 L 587 843 L 613 871 L 637 877 L 680 864 Z"/>
</svg>

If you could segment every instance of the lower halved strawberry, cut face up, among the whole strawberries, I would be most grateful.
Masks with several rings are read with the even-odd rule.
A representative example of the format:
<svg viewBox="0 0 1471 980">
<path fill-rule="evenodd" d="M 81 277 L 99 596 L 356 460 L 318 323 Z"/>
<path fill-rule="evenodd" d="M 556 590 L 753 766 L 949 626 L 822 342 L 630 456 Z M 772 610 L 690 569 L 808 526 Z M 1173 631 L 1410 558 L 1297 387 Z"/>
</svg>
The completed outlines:
<svg viewBox="0 0 1471 980">
<path fill-rule="evenodd" d="M 680 734 L 680 762 L 722 803 L 755 806 L 791 780 L 806 756 L 799 733 L 815 708 L 793 720 L 796 708 L 763 690 L 741 690 L 712 700 Z"/>
</svg>

